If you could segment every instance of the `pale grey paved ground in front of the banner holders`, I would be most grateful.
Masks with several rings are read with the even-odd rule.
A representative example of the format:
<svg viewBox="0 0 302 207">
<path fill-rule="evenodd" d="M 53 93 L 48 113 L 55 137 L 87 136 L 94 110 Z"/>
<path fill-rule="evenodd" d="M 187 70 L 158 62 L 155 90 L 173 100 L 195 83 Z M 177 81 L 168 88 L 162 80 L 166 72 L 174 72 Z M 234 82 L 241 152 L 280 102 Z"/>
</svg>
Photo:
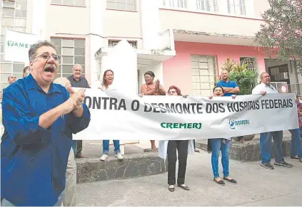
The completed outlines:
<svg viewBox="0 0 302 207">
<path fill-rule="evenodd" d="M 79 184 L 79 206 L 301 206 L 302 163 L 291 169 L 264 169 L 259 162 L 231 160 L 231 176 L 237 185 L 218 186 L 211 174 L 211 155 L 188 157 L 186 184 L 191 191 L 168 191 L 167 174 Z"/>
</svg>

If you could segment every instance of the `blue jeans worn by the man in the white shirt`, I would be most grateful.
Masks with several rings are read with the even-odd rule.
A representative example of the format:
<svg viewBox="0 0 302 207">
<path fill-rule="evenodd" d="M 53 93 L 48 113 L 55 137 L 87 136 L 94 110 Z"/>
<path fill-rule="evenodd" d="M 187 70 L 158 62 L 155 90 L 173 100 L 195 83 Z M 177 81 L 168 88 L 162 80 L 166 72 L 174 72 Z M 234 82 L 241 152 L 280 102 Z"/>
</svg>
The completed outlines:
<svg viewBox="0 0 302 207">
<path fill-rule="evenodd" d="M 271 138 L 273 138 L 275 162 L 280 162 L 281 160 L 283 160 L 283 132 L 264 132 L 260 133 L 260 152 L 261 161 L 263 164 L 270 164 L 271 162 Z"/>
</svg>

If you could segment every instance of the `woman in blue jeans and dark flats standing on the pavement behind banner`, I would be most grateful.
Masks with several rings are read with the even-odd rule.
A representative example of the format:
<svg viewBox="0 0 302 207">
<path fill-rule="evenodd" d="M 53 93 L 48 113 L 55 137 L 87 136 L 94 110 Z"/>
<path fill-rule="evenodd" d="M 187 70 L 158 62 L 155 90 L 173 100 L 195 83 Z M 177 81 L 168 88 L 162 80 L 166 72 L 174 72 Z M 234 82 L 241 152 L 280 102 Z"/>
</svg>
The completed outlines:
<svg viewBox="0 0 302 207">
<path fill-rule="evenodd" d="M 220 97 L 223 96 L 223 87 L 216 86 L 213 88 L 213 96 L 214 97 Z M 234 99 L 236 95 L 232 95 L 232 98 Z M 209 99 L 212 99 L 213 97 L 209 97 Z M 231 148 L 231 138 L 216 138 L 216 139 L 208 139 L 208 152 L 212 152 L 211 156 L 211 163 L 212 163 L 212 170 L 213 170 L 213 176 L 217 184 L 225 185 L 224 181 L 228 181 L 231 184 L 237 184 L 237 181 L 232 179 L 230 177 L 230 173 L 228 171 L 228 164 L 229 159 L 228 155 L 230 153 Z M 219 176 L 218 171 L 218 161 L 219 161 L 219 153 L 221 151 L 221 164 L 223 167 L 223 180 Z"/>
</svg>

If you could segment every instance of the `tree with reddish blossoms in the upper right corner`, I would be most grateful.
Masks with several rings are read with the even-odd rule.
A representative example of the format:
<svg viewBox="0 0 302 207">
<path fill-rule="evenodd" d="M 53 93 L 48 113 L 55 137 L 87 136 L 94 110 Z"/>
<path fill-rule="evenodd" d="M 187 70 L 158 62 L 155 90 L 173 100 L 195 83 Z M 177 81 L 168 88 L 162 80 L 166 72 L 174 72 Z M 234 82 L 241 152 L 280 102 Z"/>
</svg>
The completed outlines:
<svg viewBox="0 0 302 207">
<path fill-rule="evenodd" d="M 269 58 L 293 60 L 302 72 L 302 0 L 268 0 L 256 42 Z"/>
</svg>

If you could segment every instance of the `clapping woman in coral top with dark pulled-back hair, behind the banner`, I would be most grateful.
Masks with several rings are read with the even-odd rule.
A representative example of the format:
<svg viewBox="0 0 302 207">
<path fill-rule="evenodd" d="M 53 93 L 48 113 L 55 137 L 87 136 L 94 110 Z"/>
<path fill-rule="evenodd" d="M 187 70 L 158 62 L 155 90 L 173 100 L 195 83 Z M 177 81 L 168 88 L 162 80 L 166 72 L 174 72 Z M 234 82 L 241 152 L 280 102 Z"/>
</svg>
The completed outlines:
<svg viewBox="0 0 302 207">
<path fill-rule="evenodd" d="M 152 71 L 147 71 L 144 74 L 145 84 L 141 85 L 141 95 L 166 95 L 166 91 L 163 89 L 159 80 L 154 81 L 155 75 Z M 152 152 L 157 152 L 155 141 L 150 140 Z"/>
</svg>

